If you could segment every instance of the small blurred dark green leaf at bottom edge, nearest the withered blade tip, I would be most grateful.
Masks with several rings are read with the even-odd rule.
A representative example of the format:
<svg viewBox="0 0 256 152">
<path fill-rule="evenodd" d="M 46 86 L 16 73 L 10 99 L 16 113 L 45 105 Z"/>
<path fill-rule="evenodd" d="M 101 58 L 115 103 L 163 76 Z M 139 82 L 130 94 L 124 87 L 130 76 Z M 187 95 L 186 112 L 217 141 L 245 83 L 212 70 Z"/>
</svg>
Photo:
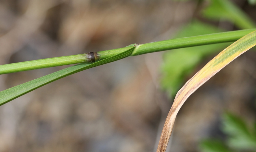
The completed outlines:
<svg viewBox="0 0 256 152">
<path fill-rule="evenodd" d="M 202 152 L 231 152 L 222 141 L 216 139 L 202 141 L 200 149 L 202 149 Z"/>
</svg>

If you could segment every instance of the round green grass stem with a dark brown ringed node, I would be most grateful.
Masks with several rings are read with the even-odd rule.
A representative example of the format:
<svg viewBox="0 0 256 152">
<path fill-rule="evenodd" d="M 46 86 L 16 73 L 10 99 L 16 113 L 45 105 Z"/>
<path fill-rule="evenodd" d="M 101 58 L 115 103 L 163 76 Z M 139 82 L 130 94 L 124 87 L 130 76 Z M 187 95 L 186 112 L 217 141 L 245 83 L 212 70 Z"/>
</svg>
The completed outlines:
<svg viewBox="0 0 256 152">
<path fill-rule="evenodd" d="M 233 42 L 254 30 L 256 29 L 214 33 L 214 34 L 207 34 L 207 35 L 201 35 L 201 36 L 170 39 L 165 41 L 140 44 L 136 46 L 136 48 L 134 49 L 134 51 L 130 56 L 171 50 L 171 49 L 186 48 L 191 46 Z M 124 50 L 126 49 L 119 48 L 119 49 L 113 49 L 113 50 L 94 52 L 93 55 L 95 60 L 93 61 L 90 53 L 85 53 L 85 54 L 78 54 L 78 55 L 70 55 L 70 56 L 54 57 L 54 58 L 40 59 L 40 60 L 34 60 L 34 61 L 5 64 L 5 65 L 0 65 L 0 74 L 14 73 L 14 72 L 61 66 L 61 65 L 94 62 L 94 61 L 106 59 L 108 57 L 122 53 Z"/>
</svg>

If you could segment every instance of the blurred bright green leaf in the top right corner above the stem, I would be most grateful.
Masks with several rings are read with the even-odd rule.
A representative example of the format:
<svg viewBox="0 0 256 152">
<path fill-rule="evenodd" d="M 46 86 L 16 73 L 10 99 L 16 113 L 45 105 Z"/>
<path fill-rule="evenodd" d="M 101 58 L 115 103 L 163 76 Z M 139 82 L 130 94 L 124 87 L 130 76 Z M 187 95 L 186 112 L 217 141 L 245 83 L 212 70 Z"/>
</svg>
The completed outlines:
<svg viewBox="0 0 256 152">
<path fill-rule="evenodd" d="M 240 29 L 255 28 L 255 23 L 236 5 L 228 0 L 210 0 L 210 5 L 203 10 L 203 14 L 209 19 L 225 19 L 234 22 Z"/>
</svg>

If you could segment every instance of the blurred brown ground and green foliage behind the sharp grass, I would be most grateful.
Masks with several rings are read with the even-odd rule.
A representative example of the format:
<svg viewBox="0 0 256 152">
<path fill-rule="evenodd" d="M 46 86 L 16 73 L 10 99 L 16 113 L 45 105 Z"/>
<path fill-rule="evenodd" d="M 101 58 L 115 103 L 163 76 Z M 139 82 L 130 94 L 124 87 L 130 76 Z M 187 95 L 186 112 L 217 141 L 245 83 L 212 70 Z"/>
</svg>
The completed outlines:
<svg viewBox="0 0 256 152">
<path fill-rule="evenodd" d="M 1 0 L 0 64 L 256 28 L 255 4 Z M 36 89 L 0 107 L 0 151 L 156 151 L 177 91 L 230 44 L 128 57 Z M 255 59 L 254 47 L 189 97 L 166 151 L 256 150 Z M 0 75 L 0 89 L 65 67 Z"/>
</svg>

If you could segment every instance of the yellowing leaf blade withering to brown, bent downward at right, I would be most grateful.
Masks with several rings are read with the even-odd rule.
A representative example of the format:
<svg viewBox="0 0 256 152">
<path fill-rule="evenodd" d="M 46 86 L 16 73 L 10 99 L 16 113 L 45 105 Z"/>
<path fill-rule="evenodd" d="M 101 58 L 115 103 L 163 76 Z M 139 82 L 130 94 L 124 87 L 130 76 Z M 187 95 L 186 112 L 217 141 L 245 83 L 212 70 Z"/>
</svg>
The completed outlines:
<svg viewBox="0 0 256 152">
<path fill-rule="evenodd" d="M 178 91 L 165 121 L 157 152 L 164 152 L 166 150 L 176 115 L 187 98 L 223 67 L 255 45 L 256 31 L 247 34 L 220 52 Z"/>
</svg>

